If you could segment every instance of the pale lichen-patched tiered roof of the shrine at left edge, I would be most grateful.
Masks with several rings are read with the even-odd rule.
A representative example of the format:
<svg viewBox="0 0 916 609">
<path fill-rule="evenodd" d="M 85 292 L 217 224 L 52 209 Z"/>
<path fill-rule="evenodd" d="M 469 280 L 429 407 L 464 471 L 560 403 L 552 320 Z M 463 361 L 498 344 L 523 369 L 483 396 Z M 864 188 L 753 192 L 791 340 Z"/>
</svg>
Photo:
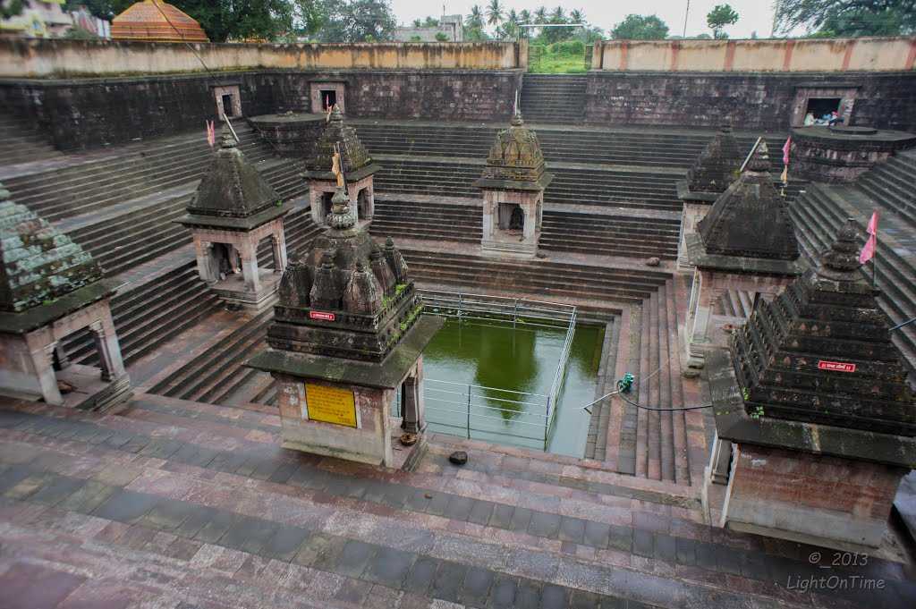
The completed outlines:
<svg viewBox="0 0 916 609">
<path fill-rule="evenodd" d="M 0 184 L 0 311 L 48 304 L 102 279 L 102 269 L 69 236 L 9 200 Z"/>
</svg>

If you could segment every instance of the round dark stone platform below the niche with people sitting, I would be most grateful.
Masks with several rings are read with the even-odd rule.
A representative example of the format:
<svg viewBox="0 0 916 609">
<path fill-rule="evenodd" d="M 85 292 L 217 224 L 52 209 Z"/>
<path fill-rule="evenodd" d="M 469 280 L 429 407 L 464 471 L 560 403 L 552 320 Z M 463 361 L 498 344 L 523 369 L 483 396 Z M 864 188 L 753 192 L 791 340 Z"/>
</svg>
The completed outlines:
<svg viewBox="0 0 916 609">
<path fill-rule="evenodd" d="M 916 134 L 869 126 L 792 129 L 792 173 L 828 182 L 853 181 L 898 150 L 916 147 Z"/>
</svg>

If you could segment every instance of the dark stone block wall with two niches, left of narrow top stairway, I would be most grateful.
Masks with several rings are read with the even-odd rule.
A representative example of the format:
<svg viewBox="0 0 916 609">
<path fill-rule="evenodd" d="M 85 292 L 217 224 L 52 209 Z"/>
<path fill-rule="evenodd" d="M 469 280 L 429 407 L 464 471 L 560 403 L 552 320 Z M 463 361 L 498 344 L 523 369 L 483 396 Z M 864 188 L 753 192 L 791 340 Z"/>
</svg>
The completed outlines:
<svg viewBox="0 0 916 609">
<path fill-rule="evenodd" d="M 312 82 L 343 82 L 349 116 L 507 121 L 519 71 L 241 71 L 220 76 L 0 82 L 0 108 L 34 121 L 60 150 L 203 129 L 214 87 L 238 86 L 246 116 L 311 112 Z"/>
</svg>

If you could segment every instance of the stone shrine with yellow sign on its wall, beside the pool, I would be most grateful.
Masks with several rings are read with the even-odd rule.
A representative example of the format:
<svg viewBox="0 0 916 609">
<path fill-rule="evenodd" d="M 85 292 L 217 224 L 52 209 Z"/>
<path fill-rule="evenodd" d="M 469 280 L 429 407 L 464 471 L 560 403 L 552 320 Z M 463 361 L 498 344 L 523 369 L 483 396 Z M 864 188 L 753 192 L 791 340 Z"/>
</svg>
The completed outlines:
<svg viewBox="0 0 916 609">
<path fill-rule="evenodd" d="M 324 233 L 283 274 L 270 348 L 248 363 L 278 383 L 283 446 L 395 466 L 392 438 L 426 427 L 422 353 L 442 320 L 422 310 L 398 249 L 357 227 L 338 186 Z"/>
</svg>

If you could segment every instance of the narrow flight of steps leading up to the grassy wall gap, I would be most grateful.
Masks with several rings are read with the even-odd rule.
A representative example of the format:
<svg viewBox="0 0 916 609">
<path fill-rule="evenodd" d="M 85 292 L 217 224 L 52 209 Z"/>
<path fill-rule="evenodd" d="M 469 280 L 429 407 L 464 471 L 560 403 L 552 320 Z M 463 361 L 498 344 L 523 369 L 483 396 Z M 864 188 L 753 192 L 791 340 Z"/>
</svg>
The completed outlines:
<svg viewBox="0 0 916 609">
<path fill-rule="evenodd" d="M 587 77 L 525 74 L 521 83 L 522 114 L 532 123 L 583 123 Z"/>
</svg>

